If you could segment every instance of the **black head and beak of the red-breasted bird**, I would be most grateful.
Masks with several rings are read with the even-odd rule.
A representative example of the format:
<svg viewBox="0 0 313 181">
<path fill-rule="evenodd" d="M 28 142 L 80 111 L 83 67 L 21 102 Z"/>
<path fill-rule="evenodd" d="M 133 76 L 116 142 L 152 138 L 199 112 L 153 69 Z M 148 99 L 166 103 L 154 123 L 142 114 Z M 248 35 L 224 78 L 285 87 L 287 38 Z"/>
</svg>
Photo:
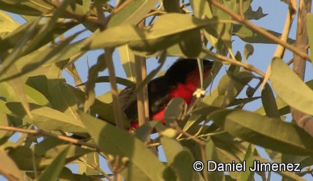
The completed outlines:
<svg viewBox="0 0 313 181">
<path fill-rule="evenodd" d="M 211 69 L 213 62 L 203 59 L 203 70 Z M 169 85 L 177 85 L 185 83 L 187 75 L 193 70 L 198 69 L 197 59 L 178 59 L 165 73 L 164 78 L 167 79 Z"/>
</svg>

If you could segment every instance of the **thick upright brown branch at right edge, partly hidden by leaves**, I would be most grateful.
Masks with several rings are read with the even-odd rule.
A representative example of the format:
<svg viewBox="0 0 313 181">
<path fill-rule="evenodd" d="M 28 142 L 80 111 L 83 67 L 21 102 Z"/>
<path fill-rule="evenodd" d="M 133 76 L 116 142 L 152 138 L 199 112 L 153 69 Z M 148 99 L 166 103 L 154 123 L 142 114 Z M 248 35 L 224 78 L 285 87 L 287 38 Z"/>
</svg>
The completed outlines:
<svg viewBox="0 0 313 181">
<path fill-rule="evenodd" d="M 307 45 L 309 43 L 307 33 L 307 13 L 311 12 L 311 0 L 300 0 L 298 8 L 298 23 L 297 33 L 294 46 L 299 48 L 301 51 L 307 51 Z M 293 71 L 304 80 L 306 61 L 303 57 L 298 54 L 293 54 Z M 291 108 L 291 115 L 294 118 L 297 125 L 303 128 L 311 136 L 313 136 L 313 119 L 305 113 L 299 110 Z"/>
</svg>

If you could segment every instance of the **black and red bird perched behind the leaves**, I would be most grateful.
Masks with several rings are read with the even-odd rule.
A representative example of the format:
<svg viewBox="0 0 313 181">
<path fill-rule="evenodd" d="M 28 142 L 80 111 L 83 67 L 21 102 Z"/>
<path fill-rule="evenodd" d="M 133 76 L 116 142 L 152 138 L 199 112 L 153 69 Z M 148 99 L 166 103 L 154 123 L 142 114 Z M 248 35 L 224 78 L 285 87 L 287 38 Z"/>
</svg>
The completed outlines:
<svg viewBox="0 0 313 181">
<path fill-rule="evenodd" d="M 214 62 L 203 59 L 203 80 L 209 75 Z M 152 79 L 148 83 L 148 102 L 150 120 L 164 122 L 164 111 L 167 104 L 175 97 L 182 98 L 187 106 L 193 99 L 193 93 L 200 87 L 200 73 L 197 59 L 179 58 L 163 76 Z M 130 100 L 136 85 L 126 87 L 119 94 L 121 110 L 126 114 L 132 128 L 137 129 L 137 100 Z"/>
</svg>

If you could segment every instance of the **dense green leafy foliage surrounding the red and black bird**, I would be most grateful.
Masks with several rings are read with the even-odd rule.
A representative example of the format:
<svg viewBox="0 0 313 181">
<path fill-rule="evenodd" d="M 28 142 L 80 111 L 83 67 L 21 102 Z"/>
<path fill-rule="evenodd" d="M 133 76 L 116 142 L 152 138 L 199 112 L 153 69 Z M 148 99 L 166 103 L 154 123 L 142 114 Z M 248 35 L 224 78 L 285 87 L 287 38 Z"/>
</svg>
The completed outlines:
<svg viewBox="0 0 313 181">
<path fill-rule="evenodd" d="M 243 20 L 216 6 L 216 1 Z M 252 0 L 117 2 L 113 6 L 109 0 L 0 0 L 0 174 L 10 180 L 90 181 L 251 181 L 257 174 L 266 180 L 265 172 L 192 169 L 196 160 L 268 162 L 255 145 L 266 149 L 270 161 L 301 163 L 301 169 L 313 165 L 313 137 L 284 120 L 290 107 L 313 115 L 313 82 L 304 83 L 284 63 L 283 55 L 272 59 L 270 74 L 247 63 L 254 51 L 251 44 L 277 44 L 277 37 L 282 36 L 269 27 L 254 29 L 246 23 L 267 15 L 261 7 L 253 11 Z M 8 12 L 26 23 L 13 20 Z M 309 45 L 313 45 L 312 18 L 308 14 L 304 22 Z M 145 26 L 138 26 L 143 19 Z M 81 38 L 85 31 L 92 35 Z M 71 34 L 66 36 L 66 32 Z M 234 36 L 246 43 L 241 53 L 232 50 Z M 288 34 L 283 41 L 295 42 Z M 212 59 L 215 64 L 204 88 L 222 66 L 231 65 L 216 88 L 203 99 L 196 98 L 194 107 L 182 111 L 182 100 L 172 100 L 166 109 L 166 126 L 151 121 L 129 133 L 112 125 L 117 120 L 111 93 L 95 97 L 95 83 L 112 80 L 98 77 L 100 71 L 110 68 L 106 62 L 108 56 L 112 58 L 107 54 L 112 48 L 119 50 L 128 79 L 113 80 L 125 86 L 135 83 L 136 56 L 160 56 L 160 66 L 148 79 L 157 74 L 166 57 Z M 89 68 L 89 80 L 83 83 L 74 63 L 93 49 L 105 49 L 106 54 Z M 77 87 L 67 83 L 63 71 L 70 73 Z M 253 97 L 266 77 L 261 99 Z M 259 83 L 251 87 L 251 81 Z M 254 112 L 245 110 L 253 101 L 262 101 L 262 106 Z M 154 127 L 159 136 L 146 142 Z M 12 141 L 16 132 L 22 134 Z M 166 162 L 155 154 L 159 145 Z M 111 170 L 103 171 L 99 156 Z M 77 174 L 66 167 L 70 163 L 79 165 Z M 277 173 L 285 179 L 303 180 L 311 170 Z"/>
</svg>

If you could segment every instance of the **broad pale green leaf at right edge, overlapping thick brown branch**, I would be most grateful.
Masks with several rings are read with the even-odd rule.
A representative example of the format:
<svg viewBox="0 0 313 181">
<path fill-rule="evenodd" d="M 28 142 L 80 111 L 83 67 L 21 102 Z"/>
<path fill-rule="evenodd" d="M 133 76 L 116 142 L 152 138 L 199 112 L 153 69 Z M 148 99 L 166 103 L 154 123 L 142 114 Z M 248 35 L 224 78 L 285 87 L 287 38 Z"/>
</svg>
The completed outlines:
<svg viewBox="0 0 313 181">
<path fill-rule="evenodd" d="M 281 59 L 272 60 L 269 80 L 273 90 L 284 102 L 313 115 L 313 91 Z"/>
</svg>

